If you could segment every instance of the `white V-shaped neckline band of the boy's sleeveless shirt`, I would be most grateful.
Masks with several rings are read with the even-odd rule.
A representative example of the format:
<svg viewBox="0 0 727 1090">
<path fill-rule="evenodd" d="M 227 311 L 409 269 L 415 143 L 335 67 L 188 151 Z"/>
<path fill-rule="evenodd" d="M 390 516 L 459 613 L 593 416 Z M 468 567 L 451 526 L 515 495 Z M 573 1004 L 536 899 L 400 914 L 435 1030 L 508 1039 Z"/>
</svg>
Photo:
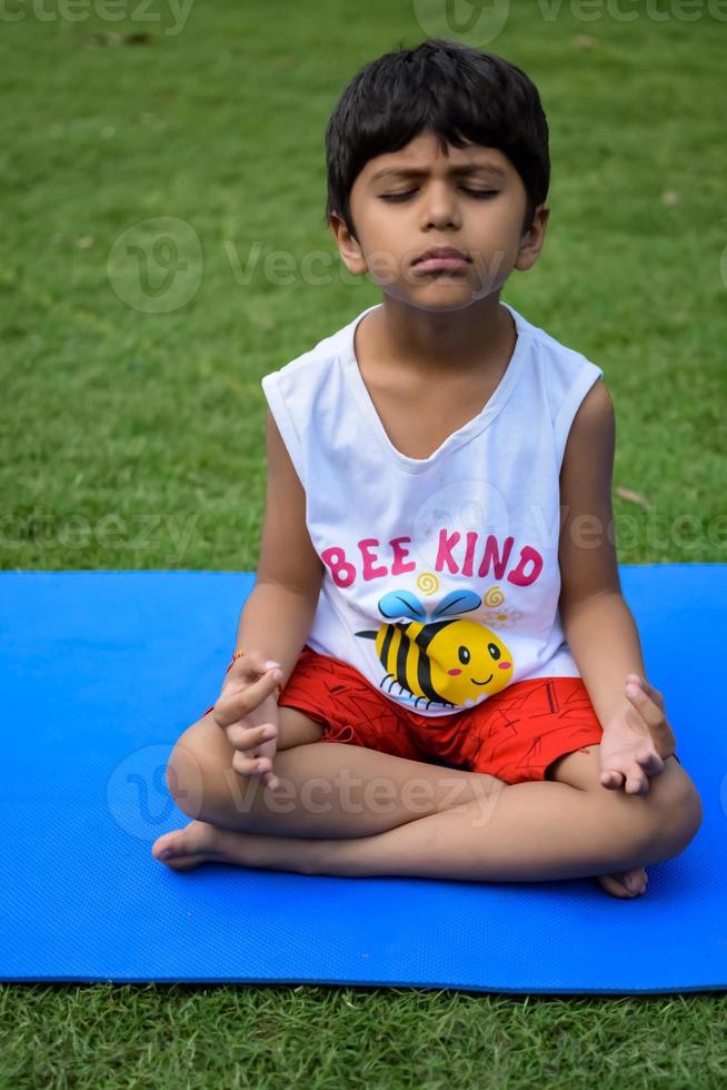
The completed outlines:
<svg viewBox="0 0 727 1090">
<path fill-rule="evenodd" d="M 384 304 L 377 303 L 372 307 L 367 307 L 366 310 L 362 310 L 361 314 L 359 314 L 347 327 L 347 336 L 341 350 L 343 374 L 346 375 L 365 419 L 369 424 L 385 453 L 390 459 L 397 462 L 399 466 L 408 473 L 421 473 L 422 470 L 428 469 L 430 466 L 435 465 L 435 463 L 439 462 L 439 459 L 446 454 L 451 454 L 464 443 L 467 443 L 476 435 L 479 435 L 480 432 L 484 432 L 485 428 L 489 427 L 496 416 L 500 413 L 512 393 L 527 358 L 530 329 L 522 316 L 518 314 L 514 307 L 509 306 L 504 300 L 500 300 L 500 305 L 506 307 L 512 315 L 516 329 L 515 348 L 512 349 L 512 355 L 510 356 L 505 374 L 495 387 L 489 400 L 482 406 L 477 416 L 472 417 L 471 420 L 468 420 L 460 428 L 457 428 L 457 430 L 452 432 L 451 435 L 448 435 L 445 442 L 441 443 L 428 458 L 410 458 L 408 455 L 402 454 L 401 450 L 394 446 L 386 433 L 376 406 L 371 400 L 371 396 L 361 376 L 358 359 L 356 358 L 355 337 L 359 321 L 361 321 L 367 314 L 382 307 Z"/>
</svg>

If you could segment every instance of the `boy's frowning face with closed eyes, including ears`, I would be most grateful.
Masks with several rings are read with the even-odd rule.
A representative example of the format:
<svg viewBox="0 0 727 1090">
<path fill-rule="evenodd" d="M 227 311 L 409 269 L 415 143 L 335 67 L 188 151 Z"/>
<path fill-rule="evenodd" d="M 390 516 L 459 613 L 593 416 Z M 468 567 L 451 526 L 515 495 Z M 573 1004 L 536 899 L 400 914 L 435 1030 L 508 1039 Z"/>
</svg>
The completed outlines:
<svg viewBox="0 0 727 1090">
<path fill-rule="evenodd" d="M 522 235 L 527 194 L 507 156 L 481 145 L 450 146 L 448 152 L 425 130 L 400 151 L 370 159 L 350 194 L 358 241 L 338 217 L 331 222 L 351 272 L 369 272 L 387 295 L 425 309 L 467 306 L 499 291 L 514 268 L 530 268 L 549 215 L 538 206 Z M 472 164 L 475 172 L 457 172 Z M 406 168 L 422 174 L 389 172 Z M 470 260 L 439 271 L 418 268 L 417 258 L 432 247 L 460 250 Z"/>
</svg>

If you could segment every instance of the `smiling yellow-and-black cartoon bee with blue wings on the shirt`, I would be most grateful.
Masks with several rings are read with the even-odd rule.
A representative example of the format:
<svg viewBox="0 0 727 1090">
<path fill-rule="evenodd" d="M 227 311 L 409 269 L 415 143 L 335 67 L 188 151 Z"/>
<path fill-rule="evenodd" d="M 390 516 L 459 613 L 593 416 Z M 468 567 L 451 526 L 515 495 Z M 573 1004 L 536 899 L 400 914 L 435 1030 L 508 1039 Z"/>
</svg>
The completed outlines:
<svg viewBox="0 0 727 1090">
<path fill-rule="evenodd" d="M 377 632 L 357 632 L 376 641 L 379 661 L 387 671 L 389 692 L 399 684 L 419 701 L 447 707 L 472 705 L 482 695 L 499 693 L 512 677 L 512 656 L 498 637 L 475 621 L 447 620 L 450 614 L 477 610 L 481 600 L 472 591 L 452 591 L 427 620 L 427 611 L 410 591 L 391 591 L 379 601 L 385 617 L 411 617 L 382 624 Z"/>
</svg>

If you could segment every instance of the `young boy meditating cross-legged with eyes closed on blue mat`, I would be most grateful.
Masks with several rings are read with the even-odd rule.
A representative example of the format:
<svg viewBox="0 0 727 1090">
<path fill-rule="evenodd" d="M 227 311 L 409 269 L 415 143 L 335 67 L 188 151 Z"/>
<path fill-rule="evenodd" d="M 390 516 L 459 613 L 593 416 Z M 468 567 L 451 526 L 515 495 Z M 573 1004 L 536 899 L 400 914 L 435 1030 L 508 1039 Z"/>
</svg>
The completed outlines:
<svg viewBox="0 0 727 1090">
<path fill-rule="evenodd" d="M 326 143 L 384 298 L 262 379 L 257 583 L 169 762 L 200 820 L 153 854 L 638 895 L 701 804 L 621 596 L 602 370 L 500 301 L 549 218 L 538 92 L 429 40 L 366 66 Z"/>
</svg>

